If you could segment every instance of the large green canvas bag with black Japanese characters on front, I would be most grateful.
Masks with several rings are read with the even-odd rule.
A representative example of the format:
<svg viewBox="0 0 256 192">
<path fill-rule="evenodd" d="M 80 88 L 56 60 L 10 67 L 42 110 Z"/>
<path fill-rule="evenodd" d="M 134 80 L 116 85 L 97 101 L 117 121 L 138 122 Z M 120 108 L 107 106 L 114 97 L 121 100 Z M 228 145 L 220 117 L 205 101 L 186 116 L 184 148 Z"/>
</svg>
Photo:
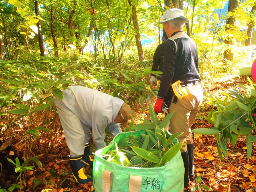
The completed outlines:
<svg viewBox="0 0 256 192">
<path fill-rule="evenodd" d="M 182 192 L 184 164 L 180 151 L 162 167 L 125 167 L 102 158 L 110 148 L 127 136 L 146 131 L 122 132 L 110 144 L 95 152 L 93 162 L 94 192 Z M 178 143 L 175 138 L 174 143 Z"/>
</svg>

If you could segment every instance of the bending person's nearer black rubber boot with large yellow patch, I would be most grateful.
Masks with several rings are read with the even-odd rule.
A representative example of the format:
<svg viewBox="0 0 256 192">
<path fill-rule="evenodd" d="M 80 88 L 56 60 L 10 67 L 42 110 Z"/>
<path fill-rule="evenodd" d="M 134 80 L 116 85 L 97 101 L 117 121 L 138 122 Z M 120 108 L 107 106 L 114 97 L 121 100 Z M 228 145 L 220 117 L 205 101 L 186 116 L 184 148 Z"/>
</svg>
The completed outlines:
<svg viewBox="0 0 256 192">
<path fill-rule="evenodd" d="M 93 181 L 91 178 L 88 178 L 83 171 L 84 163 L 82 162 L 81 157 L 72 158 L 68 155 L 69 163 L 71 166 L 72 174 L 74 180 L 79 184 L 86 184 L 89 181 Z"/>
</svg>

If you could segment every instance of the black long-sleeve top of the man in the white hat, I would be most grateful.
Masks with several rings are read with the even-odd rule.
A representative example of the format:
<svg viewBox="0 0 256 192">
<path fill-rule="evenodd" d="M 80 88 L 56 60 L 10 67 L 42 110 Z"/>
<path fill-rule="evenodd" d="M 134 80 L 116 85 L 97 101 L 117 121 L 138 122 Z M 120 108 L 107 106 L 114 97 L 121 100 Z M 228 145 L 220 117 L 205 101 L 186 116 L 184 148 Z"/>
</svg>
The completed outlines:
<svg viewBox="0 0 256 192">
<path fill-rule="evenodd" d="M 165 98 L 170 85 L 200 80 L 196 43 L 183 31 L 176 31 L 164 44 L 163 75 L 158 91 L 159 98 Z"/>
</svg>

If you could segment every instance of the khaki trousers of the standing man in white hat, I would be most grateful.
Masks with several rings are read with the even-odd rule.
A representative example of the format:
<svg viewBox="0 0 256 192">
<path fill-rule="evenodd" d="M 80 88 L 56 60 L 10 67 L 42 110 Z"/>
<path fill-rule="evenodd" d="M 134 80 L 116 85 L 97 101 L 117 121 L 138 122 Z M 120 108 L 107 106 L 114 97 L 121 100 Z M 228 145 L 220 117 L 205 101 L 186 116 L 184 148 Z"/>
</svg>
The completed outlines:
<svg viewBox="0 0 256 192">
<path fill-rule="evenodd" d="M 170 133 L 183 132 L 177 137 L 179 142 L 184 142 L 181 153 L 187 151 L 187 144 L 193 143 L 190 128 L 203 101 L 203 90 L 200 84 L 187 86 L 185 89 L 188 91 L 188 95 L 178 99 L 177 103 L 172 102 L 169 107 L 169 113 L 174 111 L 170 120 Z"/>
</svg>

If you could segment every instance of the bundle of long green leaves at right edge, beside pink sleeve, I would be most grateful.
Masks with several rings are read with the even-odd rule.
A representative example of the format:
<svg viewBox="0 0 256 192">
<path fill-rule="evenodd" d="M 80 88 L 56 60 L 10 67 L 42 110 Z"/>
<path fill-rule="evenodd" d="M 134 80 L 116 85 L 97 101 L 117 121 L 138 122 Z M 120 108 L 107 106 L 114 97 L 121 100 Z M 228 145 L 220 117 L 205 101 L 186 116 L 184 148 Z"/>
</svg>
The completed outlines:
<svg viewBox="0 0 256 192">
<path fill-rule="evenodd" d="M 250 79 L 248 80 L 252 83 Z M 235 146 L 238 137 L 246 135 L 247 158 L 249 159 L 252 153 L 252 141 L 255 141 L 255 136 L 252 136 L 253 129 L 256 132 L 256 119 L 252 115 L 256 109 L 256 86 L 251 84 L 251 87 L 247 88 L 240 84 L 237 85 L 244 91 L 234 89 L 230 90 L 230 94 L 222 93 L 226 95 L 224 101 L 216 96 L 210 98 L 212 105 L 215 105 L 217 109 L 212 109 L 205 118 L 214 124 L 214 127 L 193 129 L 192 132 L 216 135 L 216 144 L 221 158 L 223 155 L 228 157 L 227 143 L 231 142 Z"/>
</svg>

